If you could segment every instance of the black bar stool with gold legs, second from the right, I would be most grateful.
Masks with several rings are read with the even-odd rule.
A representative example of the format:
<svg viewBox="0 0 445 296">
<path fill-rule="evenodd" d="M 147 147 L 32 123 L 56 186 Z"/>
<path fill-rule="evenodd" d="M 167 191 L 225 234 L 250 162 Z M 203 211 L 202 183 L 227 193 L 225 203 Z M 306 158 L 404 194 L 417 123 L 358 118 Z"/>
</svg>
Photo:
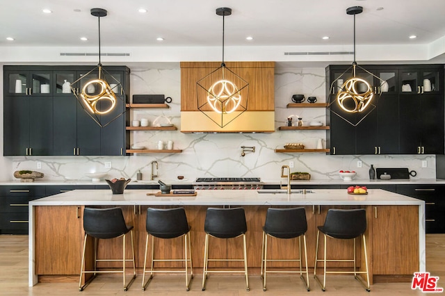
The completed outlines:
<svg viewBox="0 0 445 296">
<path fill-rule="evenodd" d="M 303 274 L 306 274 L 306 289 L 309 291 L 309 272 L 307 270 L 307 249 L 306 249 L 306 212 L 305 208 L 268 208 L 266 213 L 266 222 L 263 227 L 263 243 L 261 247 L 261 277 L 264 279 L 263 290 L 266 291 L 266 274 L 268 273 L 299 273 L 300 279 L 305 281 Z M 281 239 L 298 238 L 298 259 L 268 259 L 267 247 L 268 236 Z M 301 237 L 303 237 L 303 247 L 305 249 L 305 270 L 302 270 L 301 260 Z M 267 270 L 268 262 L 298 262 L 300 271 Z M 263 268 L 264 266 L 264 268 Z"/>
</svg>

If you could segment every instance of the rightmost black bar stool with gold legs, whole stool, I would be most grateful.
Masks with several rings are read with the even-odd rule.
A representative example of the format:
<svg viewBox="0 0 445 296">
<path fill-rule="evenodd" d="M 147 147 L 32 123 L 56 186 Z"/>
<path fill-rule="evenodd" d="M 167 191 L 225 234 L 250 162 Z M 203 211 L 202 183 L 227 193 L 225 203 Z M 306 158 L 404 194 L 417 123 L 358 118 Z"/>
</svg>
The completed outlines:
<svg viewBox="0 0 445 296">
<path fill-rule="evenodd" d="M 317 243 L 316 243 L 316 252 L 315 252 L 315 265 L 314 265 L 314 278 L 321 286 L 321 290 L 325 290 L 326 287 L 326 274 L 327 273 L 350 273 L 354 274 L 355 279 L 362 283 L 362 286 L 366 289 L 366 291 L 370 291 L 369 289 L 369 272 L 368 272 L 368 255 L 366 254 L 366 240 L 364 238 L 364 232 L 366 231 L 366 211 L 364 208 L 359 208 L 355 210 L 340 210 L 331 208 L 327 211 L 325 224 L 323 226 L 318 227 L 317 231 Z M 318 259 L 318 238 L 320 236 L 320 232 L 322 232 L 325 236 L 325 252 L 324 258 Z M 342 240 L 354 240 L 354 258 L 346 259 L 346 260 L 327 260 L 326 259 L 326 237 L 330 236 L 331 238 L 339 238 Z M 362 236 L 363 238 L 363 249 L 364 249 L 364 261 L 366 266 L 366 271 L 357 271 L 357 264 L 355 261 L 355 238 Z M 323 262 L 323 284 L 316 276 L 317 270 L 317 262 Z M 326 271 L 326 262 L 353 262 L 354 270 L 350 272 L 345 271 Z M 357 274 L 366 274 L 366 283 L 363 281 L 361 277 L 358 277 Z"/>
</svg>

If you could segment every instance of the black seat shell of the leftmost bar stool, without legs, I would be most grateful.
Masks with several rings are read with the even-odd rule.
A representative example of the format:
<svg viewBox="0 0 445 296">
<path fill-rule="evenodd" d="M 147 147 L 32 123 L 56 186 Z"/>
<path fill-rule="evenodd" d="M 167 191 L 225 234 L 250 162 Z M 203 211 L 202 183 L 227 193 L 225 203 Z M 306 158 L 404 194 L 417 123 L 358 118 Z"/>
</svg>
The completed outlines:
<svg viewBox="0 0 445 296">
<path fill-rule="evenodd" d="M 122 208 L 85 208 L 83 229 L 93 238 L 118 238 L 129 232 Z"/>
</svg>

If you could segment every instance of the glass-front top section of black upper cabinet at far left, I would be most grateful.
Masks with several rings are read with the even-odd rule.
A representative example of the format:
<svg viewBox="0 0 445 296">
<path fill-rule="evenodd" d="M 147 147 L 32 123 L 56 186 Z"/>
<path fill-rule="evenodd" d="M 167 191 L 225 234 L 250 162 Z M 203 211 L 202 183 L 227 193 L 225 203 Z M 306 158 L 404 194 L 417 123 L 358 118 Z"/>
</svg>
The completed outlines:
<svg viewBox="0 0 445 296">
<path fill-rule="evenodd" d="M 31 96 L 51 94 L 51 71 L 6 71 L 6 95 Z"/>
</svg>

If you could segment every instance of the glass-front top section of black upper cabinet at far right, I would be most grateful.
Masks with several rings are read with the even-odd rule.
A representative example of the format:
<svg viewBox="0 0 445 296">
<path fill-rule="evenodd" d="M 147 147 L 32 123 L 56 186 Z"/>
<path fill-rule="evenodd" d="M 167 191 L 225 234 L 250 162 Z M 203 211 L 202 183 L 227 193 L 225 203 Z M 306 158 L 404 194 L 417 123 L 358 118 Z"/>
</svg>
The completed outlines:
<svg viewBox="0 0 445 296">
<path fill-rule="evenodd" d="M 430 69 L 401 69 L 399 71 L 401 94 L 439 93 L 442 88 L 437 67 Z"/>
</svg>

